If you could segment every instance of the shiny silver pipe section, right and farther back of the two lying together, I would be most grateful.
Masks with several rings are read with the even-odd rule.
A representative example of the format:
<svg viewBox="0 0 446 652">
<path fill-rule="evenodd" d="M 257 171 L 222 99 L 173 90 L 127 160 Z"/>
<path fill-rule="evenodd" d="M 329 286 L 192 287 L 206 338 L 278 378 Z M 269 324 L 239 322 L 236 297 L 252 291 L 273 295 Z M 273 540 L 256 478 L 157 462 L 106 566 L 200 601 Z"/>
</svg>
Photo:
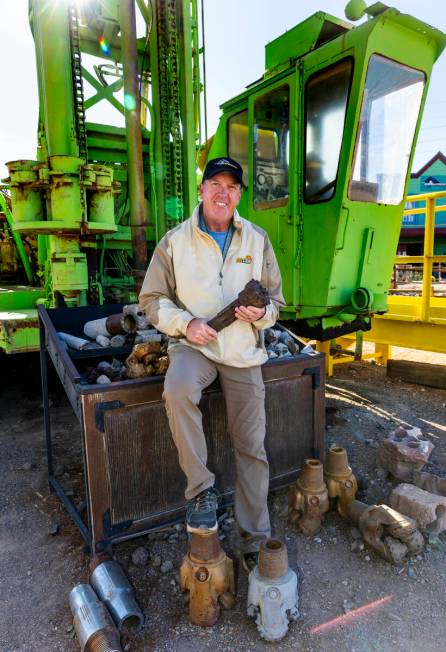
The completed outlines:
<svg viewBox="0 0 446 652">
<path fill-rule="evenodd" d="M 143 613 L 118 562 L 104 561 L 99 564 L 91 574 L 90 583 L 110 611 L 119 630 L 124 625 L 134 631 L 142 628 Z"/>
</svg>

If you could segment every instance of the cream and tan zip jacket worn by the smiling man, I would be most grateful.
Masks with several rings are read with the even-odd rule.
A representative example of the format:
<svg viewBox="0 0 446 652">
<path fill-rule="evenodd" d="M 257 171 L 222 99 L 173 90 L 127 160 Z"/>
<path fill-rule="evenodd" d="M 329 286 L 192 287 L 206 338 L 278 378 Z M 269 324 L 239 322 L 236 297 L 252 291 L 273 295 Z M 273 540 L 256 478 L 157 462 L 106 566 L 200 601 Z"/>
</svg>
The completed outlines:
<svg viewBox="0 0 446 652">
<path fill-rule="evenodd" d="M 217 363 L 253 367 L 267 360 L 259 331 L 272 326 L 284 304 L 279 266 L 268 235 L 235 211 L 234 234 L 226 259 L 215 240 L 202 231 L 198 207 L 192 217 L 169 231 L 150 261 L 139 303 L 149 321 L 181 344 L 198 349 Z M 186 340 L 194 317 L 210 319 L 237 298 L 251 279 L 269 291 L 271 302 L 262 319 L 249 324 L 237 319 L 207 346 Z"/>
</svg>

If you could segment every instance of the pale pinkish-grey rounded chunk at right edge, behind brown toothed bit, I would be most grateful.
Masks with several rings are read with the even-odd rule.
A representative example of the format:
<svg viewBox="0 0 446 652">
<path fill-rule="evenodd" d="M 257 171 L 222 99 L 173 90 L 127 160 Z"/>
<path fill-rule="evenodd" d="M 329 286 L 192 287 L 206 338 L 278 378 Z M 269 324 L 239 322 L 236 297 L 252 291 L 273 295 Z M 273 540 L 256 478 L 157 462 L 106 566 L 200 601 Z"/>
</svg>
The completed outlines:
<svg viewBox="0 0 446 652">
<path fill-rule="evenodd" d="M 425 534 L 438 536 L 446 530 L 446 497 L 414 485 L 399 484 L 390 494 L 390 506 L 415 519 Z"/>
</svg>

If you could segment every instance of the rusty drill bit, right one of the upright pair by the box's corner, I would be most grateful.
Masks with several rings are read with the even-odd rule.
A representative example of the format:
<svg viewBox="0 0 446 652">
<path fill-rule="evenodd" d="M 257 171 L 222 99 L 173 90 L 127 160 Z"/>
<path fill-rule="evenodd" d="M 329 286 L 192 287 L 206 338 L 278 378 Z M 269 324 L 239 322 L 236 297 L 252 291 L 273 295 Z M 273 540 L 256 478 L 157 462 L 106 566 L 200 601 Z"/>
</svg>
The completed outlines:
<svg viewBox="0 0 446 652">
<path fill-rule="evenodd" d="M 345 518 L 348 506 L 358 491 L 358 483 L 349 466 L 345 448 L 335 446 L 328 451 L 324 478 L 331 508 L 337 509 L 340 516 Z"/>
</svg>

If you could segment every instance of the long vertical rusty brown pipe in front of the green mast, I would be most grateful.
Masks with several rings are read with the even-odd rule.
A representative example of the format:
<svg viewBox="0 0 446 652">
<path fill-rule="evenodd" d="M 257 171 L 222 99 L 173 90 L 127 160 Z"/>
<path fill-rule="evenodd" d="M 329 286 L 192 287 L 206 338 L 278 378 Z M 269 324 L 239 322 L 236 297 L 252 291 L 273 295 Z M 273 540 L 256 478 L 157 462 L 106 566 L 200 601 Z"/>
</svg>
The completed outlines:
<svg viewBox="0 0 446 652">
<path fill-rule="evenodd" d="M 138 83 L 134 0 L 121 0 L 119 22 L 122 39 L 128 188 L 132 231 L 133 267 L 139 293 L 147 268 L 144 174 L 142 164 L 141 97 Z"/>
</svg>

